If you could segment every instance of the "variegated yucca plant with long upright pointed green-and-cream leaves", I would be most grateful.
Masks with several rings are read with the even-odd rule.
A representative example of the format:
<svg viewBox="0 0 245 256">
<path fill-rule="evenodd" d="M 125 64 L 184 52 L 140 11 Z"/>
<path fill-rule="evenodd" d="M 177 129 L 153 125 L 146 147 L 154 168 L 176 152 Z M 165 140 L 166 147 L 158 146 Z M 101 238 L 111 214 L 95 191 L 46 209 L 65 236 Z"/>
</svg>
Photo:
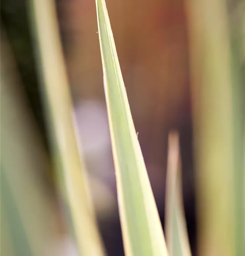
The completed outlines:
<svg viewBox="0 0 245 256">
<path fill-rule="evenodd" d="M 28 0 L 27 4 L 39 68 L 40 88 L 46 110 L 46 123 L 49 127 L 49 141 L 59 184 L 58 191 L 68 212 L 67 220 L 71 224 L 81 255 L 106 255 L 90 199 L 82 149 L 80 150 L 77 146 L 76 125 L 72 115 L 73 106 L 59 39 L 55 4 L 53 0 Z M 186 0 L 186 7 L 189 14 L 195 156 L 198 170 L 199 253 L 200 255 L 240 256 L 244 252 L 242 239 L 245 227 L 242 226 L 241 229 L 237 227 L 240 222 L 244 224 L 241 211 L 244 210 L 245 201 L 241 184 L 244 185 L 245 176 L 245 157 L 242 159 L 245 143 L 242 144 L 244 120 L 240 123 L 239 116 L 241 117 L 244 111 L 240 109 L 239 115 L 234 117 L 238 113 L 238 107 L 234 104 L 235 107 L 232 109 L 234 99 L 232 100 L 231 96 L 231 77 L 232 74 L 235 76 L 235 72 L 232 73 L 230 67 L 227 9 L 221 0 L 215 0 L 213 4 L 211 1 Z M 96 11 L 125 255 L 190 256 L 181 192 L 178 134 L 170 133 L 169 135 L 165 207 L 166 245 L 130 112 L 105 0 L 96 0 Z M 3 67 L 1 66 L 1 74 Z M 8 104 L 14 100 L 8 100 L 6 93 L 8 81 L 4 76 L 1 76 L 2 83 L 4 87 L 1 86 L 1 96 L 4 95 L 6 100 L 3 102 L 4 112 L 2 115 L 1 109 L 1 116 L 4 122 L 3 134 L 8 138 L 16 135 L 9 129 L 7 118 L 7 110 L 13 109 L 11 104 Z M 17 108 L 17 106 L 14 107 Z M 10 111 L 10 114 L 15 115 L 14 111 Z M 18 124 L 21 124 L 23 117 L 21 113 L 18 117 Z M 235 137 L 235 139 L 233 118 L 240 125 L 239 138 Z M 17 126 L 17 123 L 15 124 Z M 27 129 L 25 125 L 23 127 Z M 1 147 L 7 144 L 6 140 L 1 141 Z M 19 144 L 24 146 L 25 143 L 20 141 Z M 30 145 L 24 147 L 26 153 L 21 156 L 28 162 Z M 240 158 L 237 158 L 240 174 L 238 172 L 235 174 L 241 175 L 237 177 L 242 179 L 239 190 L 234 190 L 234 179 L 239 180 L 232 173 L 233 168 L 236 169 L 234 148 L 238 147 L 242 150 Z M 52 226 L 47 225 L 50 222 L 42 224 L 38 223 L 37 217 L 33 219 L 30 217 L 30 205 L 25 202 L 25 198 L 30 197 L 33 204 L 37 205 L 37 209 L 45 205 L 43 210 L 46 209 L 48 212 L 48 218 L 45 221 L 52 220 L 54 216 L 41 200 L 43 195 L 41 189 L 35 188 L 38 193 L 40 192 L 38 199 L 31 198 L 28 193 L 19 193 L 20 186 L 28 188 L 37 181 L 31 178 L 25 180 L 23 177 L 16 180 L 18 176 L 14 175 L 13 170 L 17 167 L 12 165 L 7 149 L 8 146 L 1 155 L 3 174 L 1 224 L 5 234 L 3 237 L 5 240 L 2 240 L 1 236 L 1 243 L 4 244 L 4 254 L 43 255 L 43 244 L 50 238 L 45 236 L 45 230 Z M 23 162 L 20 161 L 18 152 L 13 151 L 12 154 L 11 159 L 16 159 L 25 173 L 25 166 L 21 165 Z M 31 172 L 34 168 L 34 163 L 31 161 L 27 169 Z M 19 177 L 21 178 L 21 175 Z M 238 197 L 238 202 L 244 205 L 234 208 L 234 197 Z M 238 216 L 236 229 L 234 228 L 235 216 Z M 30 222 L 28 222 L 29 217 Z M 12 225 L 13 223 L 15 226 Z M 35 234 L 36 225 L 42 232 Z M 16 227 L 18 227 L 17 233 L 14 232 Z M 53 234 L 52 232 L 49 234 Z M 241 234 L 241 237 L 237 234 Z"/>
</svg>

